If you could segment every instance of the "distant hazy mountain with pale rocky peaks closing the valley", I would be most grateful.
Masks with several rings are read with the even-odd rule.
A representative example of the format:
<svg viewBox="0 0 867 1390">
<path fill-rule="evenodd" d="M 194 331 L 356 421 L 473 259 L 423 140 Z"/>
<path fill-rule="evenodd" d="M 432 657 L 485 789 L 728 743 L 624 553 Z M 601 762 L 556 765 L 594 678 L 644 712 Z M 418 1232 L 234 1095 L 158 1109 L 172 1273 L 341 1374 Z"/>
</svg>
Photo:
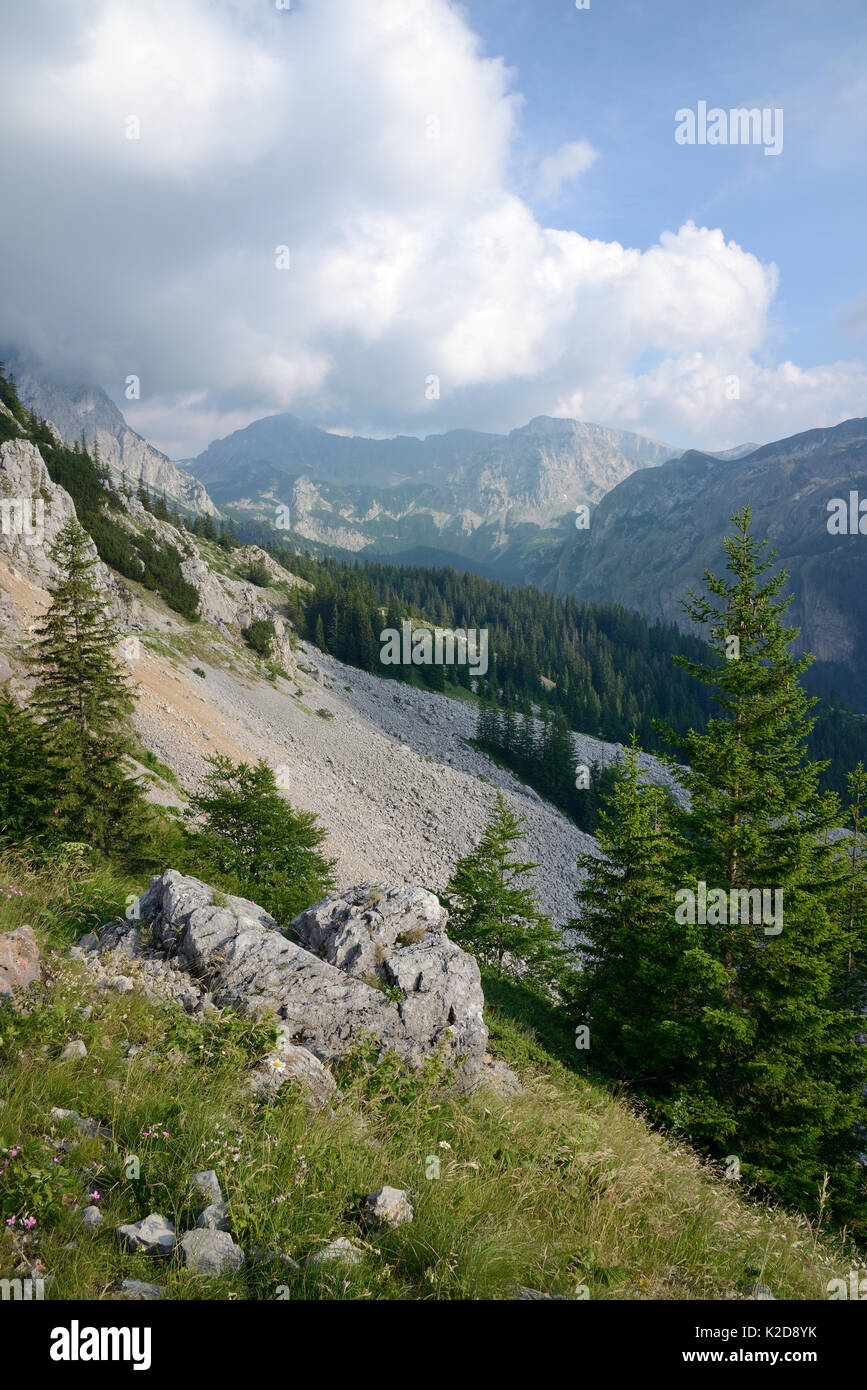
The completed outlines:
<svg viewBox="0 0 867 1390">
<path fill-rule="evenodd" d="M 675 452 L 547 416 L 509 435 L 364 439 L 281 414 L 215 441 L 190 467 L 239 514 L 272 521 L 285 503 L 307 539 L 404 556 L 434 549 L 524 578 L 554 562 L 579 503 Z"/>
</svg>

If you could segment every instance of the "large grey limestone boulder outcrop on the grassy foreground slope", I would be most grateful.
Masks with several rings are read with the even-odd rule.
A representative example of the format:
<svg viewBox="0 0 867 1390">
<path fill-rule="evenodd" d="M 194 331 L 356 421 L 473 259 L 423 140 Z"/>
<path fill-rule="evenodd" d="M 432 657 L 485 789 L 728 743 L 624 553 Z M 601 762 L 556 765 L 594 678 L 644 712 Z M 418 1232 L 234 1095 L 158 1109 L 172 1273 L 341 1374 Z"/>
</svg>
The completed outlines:
<svg viewBox="0 0 867 1390">
<path fill-rule="evenodd" d="M 320 1104 L 331 1086 L 292 1049 L 328 1062 L 374 1038 L 413 1069 L 442 1052 L 461 1090 L 481 1074 L 488 1030 L 478 965 L 449 941 L 447 913 L 434 894 L 361 884 L 283 933 L 257 903 L 222 895 L 214 902 L 207 884 L 170 870 L 151 880 L 131 916 L 104 929 L 103 948 L 133 952 L 135 923 L 147 923 L 151 949 L 189 967 L 220 1005 L 282 1024 L 275 1059 Z"/>
</svg>

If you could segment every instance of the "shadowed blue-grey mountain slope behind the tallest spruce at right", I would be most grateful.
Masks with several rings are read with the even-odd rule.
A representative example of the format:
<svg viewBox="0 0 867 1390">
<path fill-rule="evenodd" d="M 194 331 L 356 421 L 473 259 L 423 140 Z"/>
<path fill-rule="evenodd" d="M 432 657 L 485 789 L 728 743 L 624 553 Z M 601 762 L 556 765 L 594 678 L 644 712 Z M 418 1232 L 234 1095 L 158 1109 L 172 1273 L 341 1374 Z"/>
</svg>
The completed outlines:
<svg viewBox="0 0 867 1390">
<path fill-rule="evenodd" d="M 572 532 L 546 577 L 560 592 L 606 599 L 688 627 L 679 599 L 704 567 L 721 570 L 731 513 L 749 502 L 754 531 L 791 571 L 791 620 L 820 659 L 814 680 L 867 708 L 867 535 L 831 535 L 828 502 L 867 499 L 867 420 L 764 445 L 742 459 L 689 452 L 634 473 Z M 866 521 L 867 524 L 867 521 Z"/>
</svg>

